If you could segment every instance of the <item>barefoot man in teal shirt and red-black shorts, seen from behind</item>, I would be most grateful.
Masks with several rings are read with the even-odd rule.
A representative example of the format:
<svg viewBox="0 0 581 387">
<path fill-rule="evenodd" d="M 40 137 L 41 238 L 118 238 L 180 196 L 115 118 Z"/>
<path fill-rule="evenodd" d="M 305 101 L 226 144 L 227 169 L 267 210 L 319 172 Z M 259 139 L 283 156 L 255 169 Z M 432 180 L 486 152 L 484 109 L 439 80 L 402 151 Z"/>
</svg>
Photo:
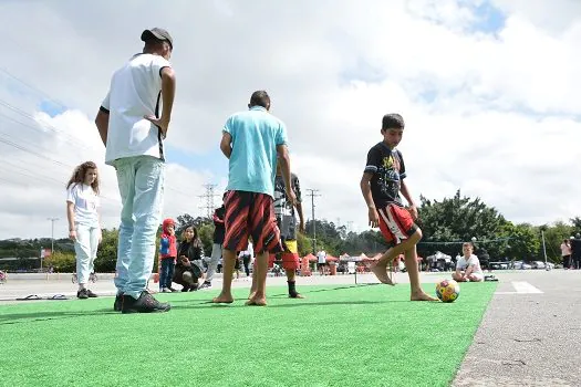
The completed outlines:
<svg viewBox="0 0 581 387">
<path fill-rule="evenodd" d="M 266 305 L 268 255 L 282 251 L 272 207 L 277 155 L 289 200 L 294 205 L 297 198 L 291 189 L 287 128 L 269 113 L 268 93 L 252 93 L 248 107 L 248 111 L 230 116 L 222 129 L 220 149 L 230 161 L 224 203 L 224 283 L 221 293 L 214 302 L 234 302 L 231 283 L 236 251 L 246 250 L 250 237 L 257 253 L 253 273 L 257 289 L 247 305 Z"/>
</svg>

